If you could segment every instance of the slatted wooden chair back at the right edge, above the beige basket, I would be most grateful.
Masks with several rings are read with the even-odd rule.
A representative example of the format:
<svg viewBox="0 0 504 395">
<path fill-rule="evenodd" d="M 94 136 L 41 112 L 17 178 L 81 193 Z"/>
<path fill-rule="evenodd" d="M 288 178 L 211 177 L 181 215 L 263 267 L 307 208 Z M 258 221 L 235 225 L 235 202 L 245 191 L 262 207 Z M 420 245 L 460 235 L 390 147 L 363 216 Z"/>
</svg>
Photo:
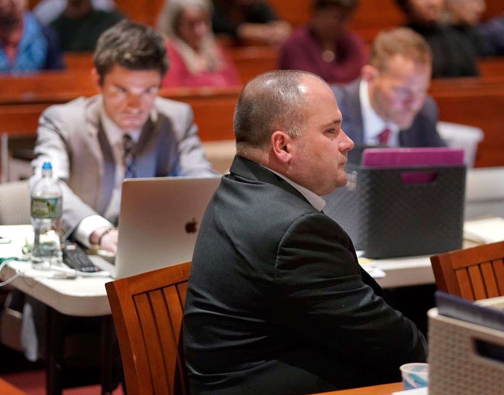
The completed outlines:
<svg viewBox="0 0 504 395">
<path fill-rule="evenodd" d="M 469 300 L 504 296 L 504 242 L 430 257 L 437 289 Z"/>
</svg>

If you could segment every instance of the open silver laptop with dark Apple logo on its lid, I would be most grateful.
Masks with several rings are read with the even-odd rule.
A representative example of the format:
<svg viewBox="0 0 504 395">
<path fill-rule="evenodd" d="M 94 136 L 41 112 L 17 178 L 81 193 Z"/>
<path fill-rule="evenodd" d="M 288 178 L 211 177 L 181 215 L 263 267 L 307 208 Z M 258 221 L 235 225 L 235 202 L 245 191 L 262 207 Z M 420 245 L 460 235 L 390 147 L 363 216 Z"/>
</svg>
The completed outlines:
<svg viewBox="0 0 504 395">
<path fill-rule="evenodd" d="M 113 278 L 190 261 L 199 225 L 222 176 L 126 179 L 117 254 L 91 256 Z"/>
</svg>

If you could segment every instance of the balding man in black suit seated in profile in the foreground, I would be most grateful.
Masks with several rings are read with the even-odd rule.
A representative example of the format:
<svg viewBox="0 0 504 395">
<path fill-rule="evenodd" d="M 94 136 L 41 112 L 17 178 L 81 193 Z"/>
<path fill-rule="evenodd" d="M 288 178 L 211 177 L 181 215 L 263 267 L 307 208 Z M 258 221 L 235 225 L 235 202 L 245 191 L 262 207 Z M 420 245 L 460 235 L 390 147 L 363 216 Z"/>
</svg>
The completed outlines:
<svg viewBox="0 0 504 395">
<path fill-rule="evenodd" d="M 359 266 L 322 195 L 346 184 L 353 142 L 313 74 L 250 80 L 236 153 L 196 243 L 184 308 L 193 395 L 307 394 L 400 381 L 425 339 Z"/>
</svg>

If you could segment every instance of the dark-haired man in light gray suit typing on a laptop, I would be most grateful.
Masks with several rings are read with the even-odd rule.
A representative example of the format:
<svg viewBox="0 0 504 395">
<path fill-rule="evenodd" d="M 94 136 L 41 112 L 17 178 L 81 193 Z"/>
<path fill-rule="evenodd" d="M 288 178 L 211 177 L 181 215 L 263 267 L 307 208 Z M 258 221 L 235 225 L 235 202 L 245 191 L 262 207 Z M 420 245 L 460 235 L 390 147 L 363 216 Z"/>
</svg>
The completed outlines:
<svg viewBox="0 0 504 395">
<path fill-rule="evenodd" d="M 123 178 L 216 174 L 189 105 L 158 96 L 168 68 L 160 33 L 123 20 L 98 40 L 92 75 L 100 94 L 47 108 L 39 119 L 34 176 L 51 161 L 62 181 L 62 227 L 115 253 Z"/>
</svg>

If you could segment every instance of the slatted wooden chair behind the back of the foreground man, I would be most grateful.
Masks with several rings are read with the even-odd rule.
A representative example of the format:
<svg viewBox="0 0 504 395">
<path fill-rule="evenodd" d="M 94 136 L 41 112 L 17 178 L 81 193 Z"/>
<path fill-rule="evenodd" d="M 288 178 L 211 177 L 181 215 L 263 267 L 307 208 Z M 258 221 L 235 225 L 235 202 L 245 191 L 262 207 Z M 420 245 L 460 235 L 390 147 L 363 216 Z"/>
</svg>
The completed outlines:
<svg viewBox="0 0 504 395">
<path fill-rule="evenodd" d="M 182 313 L 191 262 L 105 284 L 128 395 L 188 394 Z"/>
</svg>

